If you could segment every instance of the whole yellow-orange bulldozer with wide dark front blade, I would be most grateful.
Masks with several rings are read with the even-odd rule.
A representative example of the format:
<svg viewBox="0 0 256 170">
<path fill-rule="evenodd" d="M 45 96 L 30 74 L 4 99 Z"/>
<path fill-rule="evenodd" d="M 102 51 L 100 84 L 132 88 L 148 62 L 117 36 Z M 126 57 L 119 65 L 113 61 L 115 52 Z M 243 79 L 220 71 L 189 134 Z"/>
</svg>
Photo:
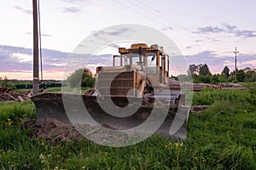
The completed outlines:
<svg viewBox="0 0 256 170">
<path fill-rule="evenodd" d="M 145 43 L 119 48 L 113 66 L 96 68 L 96 83 L 85 94 L 44 93 L 32 97 L 38 117 L 79 129 L 100 126 L 111 131 L 160 133 L 185 139 L 189 108 L 185 94 L 169 88 L 169 56 L 159 45 Z M 81 106 L 82 105 L 82 106 Z M 93 131 L 95 132 L 95 131 Z M 86 135 L 90 134 L 85 129 Z"/>
</svg>

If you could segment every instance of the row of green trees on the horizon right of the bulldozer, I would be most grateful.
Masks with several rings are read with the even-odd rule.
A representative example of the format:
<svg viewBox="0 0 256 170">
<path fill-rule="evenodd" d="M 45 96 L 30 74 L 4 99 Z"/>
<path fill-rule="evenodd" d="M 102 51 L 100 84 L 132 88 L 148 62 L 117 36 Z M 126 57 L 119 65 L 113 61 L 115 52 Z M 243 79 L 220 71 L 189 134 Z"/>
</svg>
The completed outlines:
<svg viewBox="0 0 256 170">
<path fill-rule="evenodd" d="M 248 67 L 243 70 L 230 71 L 228 66 L 224 66 L 220 74 L 212 75 L 207 64 L 189 65 L 188 75 L 193 78 L 195 83 L 256 82 L 256 72 Z M 188 76 L 180 75 L 177 79 L 185 77 Z"/>
</svg>

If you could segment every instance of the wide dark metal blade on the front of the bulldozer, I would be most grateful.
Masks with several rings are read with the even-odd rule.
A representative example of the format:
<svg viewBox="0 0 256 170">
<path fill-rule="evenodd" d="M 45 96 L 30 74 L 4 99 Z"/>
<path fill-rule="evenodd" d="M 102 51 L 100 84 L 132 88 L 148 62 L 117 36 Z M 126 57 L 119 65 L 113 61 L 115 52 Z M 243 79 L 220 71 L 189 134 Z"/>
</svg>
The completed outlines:
<svg viewBox="0 0 256 170">
<path fill-rule="evenodd" d="M 144 127 L 143 131 L 147 133 L 147 130 L 153 127 L 154 123 L 160 123 L 155 133 L 159 133 L 166 138 L 186 139 L 189 108 L 181 106 L 180 102 L 177 102 L 178 98 L 180 98 L 178 94 L 164 97 L 148 96 L 141 99 L 136 97 L 98 97 L 44 93 L 33 96 L 32 101 L 36 105 L 38 113 L 36 125 L 41 127 L 44 127 L 49 119 L 55 119 L 62 123 L 72 124 L 74 127 L 86 124 L 90 126 L 100 125 L 113 130 L 127 130 L 147 122 L 154 112 L 154 119 L 151 120 L 152 126 Z M 111 99 L 114 105 L 119 108 L 130 105 L 132 110 L 132 105 L 140 105 L 137 111 L 129 116 L 119 116 L 120 111 L 115 111 L 113 106 L 107 109 L 115 113 L 108 114 L 109 111 L 102 109 L 102 104 L 104 102 L 106 104 L 108 99 Z M 89 114 L 85 114 L 85 112 Z M 165 116 L 161 122 L 159 117 L 162 118 L 163 115 Z"/>
</svg>

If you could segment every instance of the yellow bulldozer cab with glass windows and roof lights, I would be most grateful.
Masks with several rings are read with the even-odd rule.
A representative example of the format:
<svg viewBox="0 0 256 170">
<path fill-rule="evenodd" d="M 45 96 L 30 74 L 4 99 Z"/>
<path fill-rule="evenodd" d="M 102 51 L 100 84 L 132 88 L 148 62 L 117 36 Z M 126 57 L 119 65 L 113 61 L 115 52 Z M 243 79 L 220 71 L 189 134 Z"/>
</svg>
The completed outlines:
<svg viewBox="0 0 256 170">
<path fill-rule="evenodd" d="M 158 45 L 145 43 L 132 44 L 131 48 L 119 48 L 120 55 L 113 56 L 113 66 L 131 66 L 143 74 L 157 86 L 169 82 L 169 56 Z"/>
</svg>

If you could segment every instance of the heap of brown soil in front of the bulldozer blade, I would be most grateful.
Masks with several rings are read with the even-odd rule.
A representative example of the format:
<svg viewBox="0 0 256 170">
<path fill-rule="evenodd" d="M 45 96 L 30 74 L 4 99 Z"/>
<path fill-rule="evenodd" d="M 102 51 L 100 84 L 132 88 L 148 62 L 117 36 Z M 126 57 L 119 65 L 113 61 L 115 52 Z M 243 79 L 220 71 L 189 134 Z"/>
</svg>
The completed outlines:
<svg viewBox="0 0 256 170">
<path fill-rule="evenodd" d="M 29 120 L 25 122 L 25 127 L 33 129 L 31 133 L 32 138 L 45 139 L 49 142 L 57 141 L 72 141 L 84 139 L 84 136 L 89 139 L 94 139 L 98 143 L 103 142 L 123 142 L 127 139 L 126 133 L 112 133 L 110 134 L 105 127 L 83 125 L 71 125 L 60 122 L 53 118 L 46 119 L 43 126 L 36 126 L 35 121 Z M 84 136 L 81 134 L 83 133 Z M 107 138 L 108 137 L 108 138 Z"/>
</svg>

